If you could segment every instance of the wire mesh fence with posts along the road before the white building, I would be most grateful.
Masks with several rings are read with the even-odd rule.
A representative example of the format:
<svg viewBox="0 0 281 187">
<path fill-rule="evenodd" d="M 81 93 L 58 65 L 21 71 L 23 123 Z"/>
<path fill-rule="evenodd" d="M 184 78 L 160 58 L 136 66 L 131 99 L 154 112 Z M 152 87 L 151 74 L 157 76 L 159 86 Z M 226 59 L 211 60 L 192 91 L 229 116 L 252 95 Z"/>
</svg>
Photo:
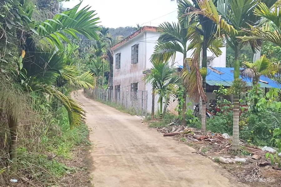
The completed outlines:
<svg viewBox="0 0 281 187">
<path fill-rule="evenodd" d="M 112 87 L 111 87 L 112 88 Z M 127 88 L 116 88 L 116 89 L 88 89 L 84 92 L 91 98 L 121 105 L 126 108 L 130 113 L 140 115 L 143 117 L 151 116 L 152 113 L 152 91 L 149 90 L 127 90 Z M 159 113 L 160 103 L 158 102 L 159 96 L 155 95 L 154 102 L 154 113 Z M 162 112 L 166 110 L 167 112 L 177 114 L 175 108 L 178 105 L 177 99 L 171 97 L 169 102 L 163 100 Z"/>
</svg>

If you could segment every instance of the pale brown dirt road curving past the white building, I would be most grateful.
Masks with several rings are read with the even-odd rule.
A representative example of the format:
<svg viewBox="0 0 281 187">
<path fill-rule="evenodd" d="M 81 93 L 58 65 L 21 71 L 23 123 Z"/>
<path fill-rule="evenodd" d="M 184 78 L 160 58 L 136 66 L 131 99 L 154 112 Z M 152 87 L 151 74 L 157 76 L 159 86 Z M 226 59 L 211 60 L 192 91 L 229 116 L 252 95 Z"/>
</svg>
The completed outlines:
<svg viewBox="0 0 281 187">
<path fill-rule="evenodd" d="M 93 129 L 90 163 L 95 187 L 242 186 L 222 176 L 215 162 L 148 129 L 137 117 L 88 99 L 82 90 L 76 99 L 83 103 Z"/>
</svg>

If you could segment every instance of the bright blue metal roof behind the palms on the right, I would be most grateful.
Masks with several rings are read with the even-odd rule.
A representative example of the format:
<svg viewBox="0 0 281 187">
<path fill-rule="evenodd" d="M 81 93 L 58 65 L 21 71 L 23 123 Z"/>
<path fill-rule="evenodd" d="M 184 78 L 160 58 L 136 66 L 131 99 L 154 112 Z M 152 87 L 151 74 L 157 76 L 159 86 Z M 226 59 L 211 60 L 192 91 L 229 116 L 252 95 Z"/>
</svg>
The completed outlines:
<svg viewBox="0 0 281 187">
<path fill-rule="evenodd" d="M 179 65 L 179 68 L 183 68 L 183 66 Z M 222 85 L 223 82 L 232 82 L 234 80 L 234 75 L 233 75 L 233 71 L 234 71 L 234 68 L 219 68 L 219 67 L 212 67 L 214 70 L 217 70 L 219 72 L 221 72 L 221 74 L 218 74 L 210 69 L 208 69 L 208 74 L 207 74 L 207 77 L 206 77 L 206 81 L 211 83 L 212 81 L 213 82 L 217 82 L 217 81 L 220 81 Z M 241 70 L 241 69 L 240 69 Z M 241 76 L 240 76 L 241 78 Z M 263 76 L 260 76 L 259 78 L 260 80 L 262 81 L 266 81 L 268 82 L 268 84 L 265 84 L 265 83 L 262 83 L 260 82 L 261 84 L 261 87 L 268 87 L 267 88 L 281 88 L 281 84 L 277 83 L 276 81 L 268 78 L 268 77 L 265 77 L 264 75 Z M 249 85 L 250 83 L 252 83 L 252 79 L 247 79 L 247 78 L 243 78 L 243 81 L 247 82 L 247 85 Z M 207 83 L 208 84 L 208 83 Z M 225 85 L 227 86 L 227 85 Z"/>
</svg>

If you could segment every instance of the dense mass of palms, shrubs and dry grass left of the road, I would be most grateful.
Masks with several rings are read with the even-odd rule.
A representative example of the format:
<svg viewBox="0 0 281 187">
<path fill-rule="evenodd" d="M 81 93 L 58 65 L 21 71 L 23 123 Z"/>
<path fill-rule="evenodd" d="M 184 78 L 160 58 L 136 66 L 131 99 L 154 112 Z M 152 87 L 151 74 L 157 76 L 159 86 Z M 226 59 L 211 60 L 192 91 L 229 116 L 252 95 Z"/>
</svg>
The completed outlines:
<svg viewBox="0 0 281 187">
<path fill-rule="evenodd" d="M 94 88 L 98 76 L 79 67 L 74 43 L 98 41 L 99 18 L 81 4 L 57 13 L 58 2 L 0 3 L 0 183 L 56 185 L 78 170 L 63 163 L 72 149 L 89 143 L 71 92 Z"/>
</svg>

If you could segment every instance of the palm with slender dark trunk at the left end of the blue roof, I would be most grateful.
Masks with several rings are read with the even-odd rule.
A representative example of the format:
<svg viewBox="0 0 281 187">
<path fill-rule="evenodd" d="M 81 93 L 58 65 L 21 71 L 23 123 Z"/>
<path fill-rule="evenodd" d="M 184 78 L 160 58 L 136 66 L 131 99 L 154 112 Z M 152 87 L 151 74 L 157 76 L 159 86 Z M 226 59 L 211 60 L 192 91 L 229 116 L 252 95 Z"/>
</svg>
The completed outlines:
<svg viewBox="0 0 281 187">
<path fill-rule="evenodd" d="M 196 0 L 193 0 L 195 6 L 193 6 L 190 1 L 188 0 L 180 0 L 179 1 L 179 19 L 180 22 L 188 22 L 190 16 L 187 14 L 192 13 L 192 8 L 200 9 Z M 219 49 L 223 47 L 224 42 L 221 37 L 216 36 L 217 26 L 216 24 L 210 20 L 209 18 L 200 15 L 200 14 L 189 14 L 193 16 L 193 24 L 190 28 L 191 36 L 191 43 L 188 46 L 189 49 L 199 48 L 200 51 L 202 49 L 202 87 L 204 93 L 206 93 L 206 75 L 207 75 L 207 49 L 212 51 L 214 55 L 217 57 L 222 54 L 222 51 Z M 195 50 L 199 51 L 199 50 Z M 206 101 L 202 100 L 202 113 L 201 113 L 201 120 L 202 120 L 202 132 L 203 134 L 206 133 Z"/>
</svg>

